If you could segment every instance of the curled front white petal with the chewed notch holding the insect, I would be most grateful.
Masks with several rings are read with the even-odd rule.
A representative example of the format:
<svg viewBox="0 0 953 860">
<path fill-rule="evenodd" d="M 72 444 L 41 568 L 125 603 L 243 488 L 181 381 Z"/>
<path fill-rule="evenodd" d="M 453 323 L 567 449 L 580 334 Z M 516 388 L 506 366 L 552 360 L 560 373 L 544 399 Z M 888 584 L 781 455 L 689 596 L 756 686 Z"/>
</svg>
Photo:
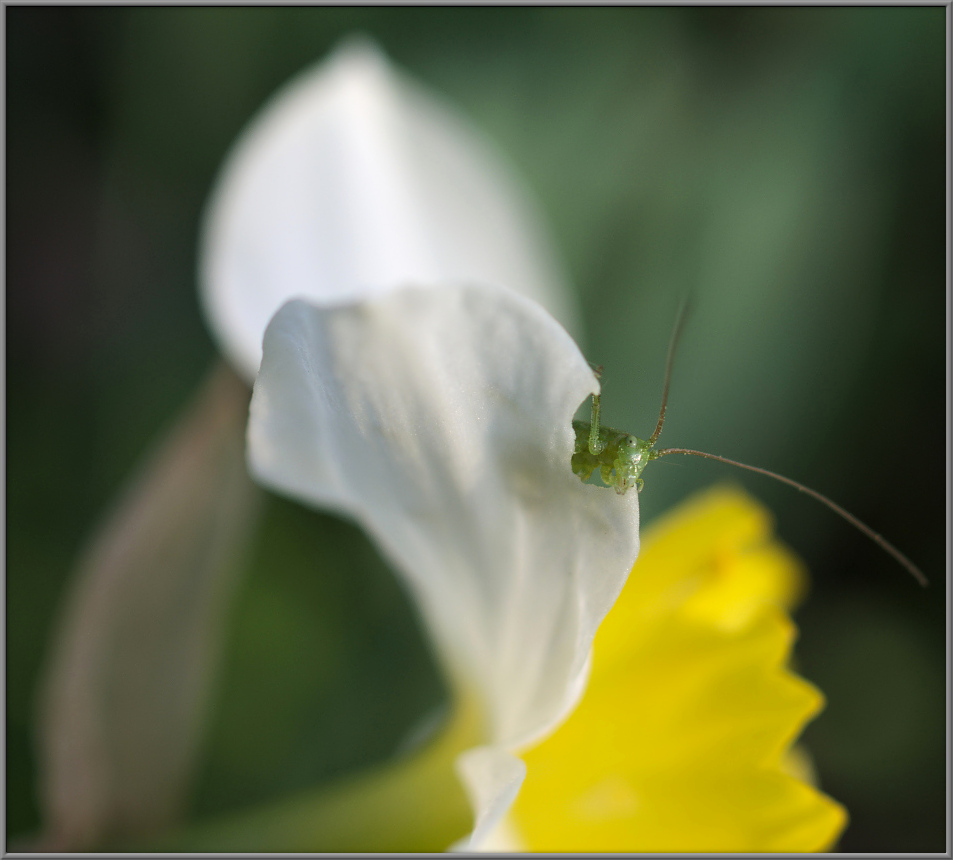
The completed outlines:
<svg viewBox="0 0 953 860">
<path fill-rule="evenodd" d="M 500 750 L 575 704 L 638 553 L 638 495 L 584 485 L 570 467 L 571 419 L 596 390 L 565 330 L 505 290 L 294 301 L 265 334 L 253 473 L 377 540 Z M 477 771 L 478 783 L 495 772 Z M 492 818 L 508 801 L 486 798 L 509 783 L 487 779 L 468 787 Z"/>
</svg>

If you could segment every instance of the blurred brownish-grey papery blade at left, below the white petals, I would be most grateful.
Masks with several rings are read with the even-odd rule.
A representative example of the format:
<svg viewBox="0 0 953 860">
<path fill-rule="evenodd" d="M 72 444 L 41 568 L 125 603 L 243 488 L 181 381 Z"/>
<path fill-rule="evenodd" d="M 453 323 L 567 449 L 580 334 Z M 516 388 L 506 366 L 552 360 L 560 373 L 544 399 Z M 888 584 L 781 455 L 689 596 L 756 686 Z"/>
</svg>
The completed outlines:
<svg viewBox="0 0 953 860">
<path fill-rule="evenodd" d="M 182 810 L 256 510 L 247 404 L 222 365 L 81 559 L 41 691 L 33 850 L 94 849 Z"/>
</svg>

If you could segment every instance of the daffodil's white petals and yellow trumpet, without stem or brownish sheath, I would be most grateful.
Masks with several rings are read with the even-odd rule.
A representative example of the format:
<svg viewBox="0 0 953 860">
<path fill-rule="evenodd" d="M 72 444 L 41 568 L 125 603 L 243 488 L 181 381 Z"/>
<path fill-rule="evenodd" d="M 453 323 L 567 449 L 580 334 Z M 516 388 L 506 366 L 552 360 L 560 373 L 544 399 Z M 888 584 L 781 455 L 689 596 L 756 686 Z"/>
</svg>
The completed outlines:
<svg viewBox="0 0 953 860">
<path fill-rule="evenodd" d="M 820 700 L 783 668 L 796 574 L 760 511 L 670 525 L 593 649 L 638 494 L 570 468 L 599 387 L 542 235 L 487 145 L 366 43 L 293 82 L 206 226 L 210 320 L 257 371 L 251 471 L 355 519 L 413 596 L 467 726 L 456 847 L 829 845 L 842 811 L 789 773 Z"/>
</svg>

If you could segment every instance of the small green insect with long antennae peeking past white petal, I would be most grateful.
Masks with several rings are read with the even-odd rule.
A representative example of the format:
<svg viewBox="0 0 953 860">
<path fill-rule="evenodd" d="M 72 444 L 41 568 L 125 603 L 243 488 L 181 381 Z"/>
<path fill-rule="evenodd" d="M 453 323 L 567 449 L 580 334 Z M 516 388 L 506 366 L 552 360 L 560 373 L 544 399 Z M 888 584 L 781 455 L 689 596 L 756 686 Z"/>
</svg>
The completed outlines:
<svg viewBox="0 0 953 860">
<path fill-rule="evenodd" d="M 846 511 L 836 502 L 827 498 L 817 490 L 812 490 L 804 484 L 779 475 L 776 472 L 770 472 L 759 466 L 749 466 L 747 463 L 739 463 L 737 460 L 729 460 L 727 457 L 719 457 L 717 454 L 708 454 L 705 451 L 696 451 L 693 448 L 656 448 L 655 443 L 662 433 L 662 425 L 665 423 L 665 407 L 668 402 L 668 387 L 672 377 L 672 363 L 675 358 L 675 348 L 678 345 L 678 338 L 681 334 L 685 321 L 685 306 L 679 311 L 675 327 L 672 330 L 672 338 L 668 347 L 668 358 L 665 363 L 665 385 L 662 391 L 662 408 L 659 410 L 658 423 L 655 430 L 648 439 L 640 439 L 631 433 L 625 433 L 622 430 L 614 430 L 606 427 L 599 420 L 600 398 L 598 394 L 592 395 L 592 418 L 591 421 L 573 421 L 572 427 L 576 433 L 575 447 L 572 455 L 572 470 L 575 475 L 583 481 L 588 481 L 592 473 L 599 470 L 599 475 L 606 486 L 613 487 L 615 491 L 622 495 L 626 490 L 632 487 L 637 492 L 642 492 L 643 480 L 642 471 L 652 461 L 660 457 L 666 457 L 669 454 L 690 454 L 693 457 L 704 457 L 706 460 L 717 460 L 719 463 L 727 463 L 729 466 L 737 466 L 739 469 L 747 469 L 749 472 L 757 472 L 759 475 L 765 475 L 780 481 L 783 484 L 794 487 L 802 493 L 812 496 L 822 504 L 830 508 L 834 513 L 839 514 L 855 528 L 863 532 L 881 549 L 892 555 L 901 565 L 903 565 L 920 583 L 927 585 L 927 578 L 909 558 L 907 558 L 893 544 L 881 537 L 870 526 L 861 522 L 850 512 Z M 602 368 L 596 367 L 597 378 L 602 375 Z"/>
</svg>

